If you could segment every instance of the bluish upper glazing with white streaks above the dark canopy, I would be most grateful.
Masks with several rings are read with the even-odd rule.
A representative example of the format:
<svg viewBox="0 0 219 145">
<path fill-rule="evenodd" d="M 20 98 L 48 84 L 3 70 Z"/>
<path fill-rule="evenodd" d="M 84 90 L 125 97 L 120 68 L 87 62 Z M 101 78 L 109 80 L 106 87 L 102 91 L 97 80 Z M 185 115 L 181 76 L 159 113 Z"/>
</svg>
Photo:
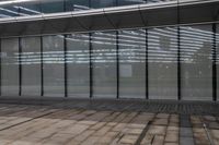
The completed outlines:
<svg viewBox="0 0 219 145">
<path fill-rule="evenodd" d="M 175 0 L 2 0 L 0 1 L 0 17 L 26 16 L 165 1 Z"/>
</svg>

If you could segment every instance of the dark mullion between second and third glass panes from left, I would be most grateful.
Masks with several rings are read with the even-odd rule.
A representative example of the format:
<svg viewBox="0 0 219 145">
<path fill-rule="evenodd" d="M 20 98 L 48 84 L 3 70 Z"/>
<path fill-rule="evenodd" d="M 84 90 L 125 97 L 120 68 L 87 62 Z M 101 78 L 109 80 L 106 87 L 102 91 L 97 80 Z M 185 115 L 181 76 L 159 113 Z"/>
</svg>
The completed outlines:
<svg viewBox="0 0 219 145">
<path fill-rule="evenodd" d="M 43 36 L 41 37 L 41 96 L 44 96 L 44 48 L 43 48 Z"/>
</svg>

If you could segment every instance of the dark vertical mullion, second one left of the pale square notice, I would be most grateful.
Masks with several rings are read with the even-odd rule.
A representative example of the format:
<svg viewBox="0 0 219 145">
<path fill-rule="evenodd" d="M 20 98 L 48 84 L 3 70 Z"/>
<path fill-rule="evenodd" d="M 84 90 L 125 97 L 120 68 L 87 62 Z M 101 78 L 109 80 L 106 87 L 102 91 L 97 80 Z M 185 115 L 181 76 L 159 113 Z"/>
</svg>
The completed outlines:
<svg viewBox="0 0 219 145">
<path fill-rule="evenodd" d="M 90 62 L 90 98 L 93 97 L 93 63 L 92 63 L 92 34 L 89 33 L 89 62 Z"/>
</svg>

